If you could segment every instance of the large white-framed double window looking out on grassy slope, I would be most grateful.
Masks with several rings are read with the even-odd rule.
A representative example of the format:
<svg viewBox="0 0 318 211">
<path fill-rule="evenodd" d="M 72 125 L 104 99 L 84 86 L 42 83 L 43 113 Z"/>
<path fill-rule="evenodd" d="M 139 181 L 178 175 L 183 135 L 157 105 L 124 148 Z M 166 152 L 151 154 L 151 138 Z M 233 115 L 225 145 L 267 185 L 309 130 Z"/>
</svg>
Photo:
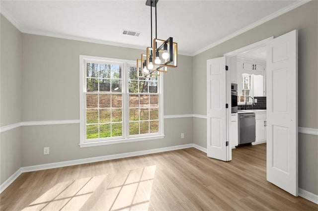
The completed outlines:
<svg viewBox="0 0 318 211">
<path fill-rule="evenodd" d="M 138 78 L 134 61 L 80 62 L 80 146 L 163 137 L 160 76 Z"/>
</svg>

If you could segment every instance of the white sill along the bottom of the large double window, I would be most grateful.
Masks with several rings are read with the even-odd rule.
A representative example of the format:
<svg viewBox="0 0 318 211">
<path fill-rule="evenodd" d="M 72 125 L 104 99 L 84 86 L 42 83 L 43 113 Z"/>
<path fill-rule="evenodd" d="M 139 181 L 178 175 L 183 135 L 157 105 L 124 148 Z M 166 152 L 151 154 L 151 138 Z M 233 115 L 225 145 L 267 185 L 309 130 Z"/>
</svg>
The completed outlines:
<svg viewBox="0 0 318 211">
<path fill-rule="evenodd" d="M 110 144 L 120 144 L 120 143 L 130 143 L 130 142 L 136 142 L 136 141 L 149 141 L 154 139 L 163 139 L 164 135 L 158 135 L 158 136 L 147 136 L 147 137 L 138 137 L 138 138 L 129 138 L 129 139 L 118 139 L 118 140 L 112 140 L 112 141 L 97 141 L 97 142 L 86 142 L 86 143 L 80 143 L 79 147 L 95 147 L 95 146 L 101 146 L 101 145 L 110 145 Z"/>
</svg>

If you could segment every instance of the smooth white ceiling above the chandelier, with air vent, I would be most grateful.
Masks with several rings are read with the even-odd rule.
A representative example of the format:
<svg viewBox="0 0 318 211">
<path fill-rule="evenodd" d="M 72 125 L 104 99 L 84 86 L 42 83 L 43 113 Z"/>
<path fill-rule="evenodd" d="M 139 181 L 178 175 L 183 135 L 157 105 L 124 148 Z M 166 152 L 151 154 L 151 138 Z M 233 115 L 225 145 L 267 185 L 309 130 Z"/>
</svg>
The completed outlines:
<svg viewBox="0 0 318 211">
<path fill-rule="evenodd" d="M 1 0 L 21 32 L 130 48 L 150 46 L 146 0 Z M 291 10 L 303 0 L 159 0 L 158 38 L 195 55 Z M 123 29 L 140 32 L 123 35 Z"/>
</svg>

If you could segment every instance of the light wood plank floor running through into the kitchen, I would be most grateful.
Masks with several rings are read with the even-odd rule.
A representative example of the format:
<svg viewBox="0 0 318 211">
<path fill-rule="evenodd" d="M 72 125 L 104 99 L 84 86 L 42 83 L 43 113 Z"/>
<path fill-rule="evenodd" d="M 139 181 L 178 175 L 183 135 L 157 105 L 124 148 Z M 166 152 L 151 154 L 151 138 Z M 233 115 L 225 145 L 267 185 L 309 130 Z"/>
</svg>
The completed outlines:
<svg viewBox="0 0 318 211">
<path fill-rule="evenodd" d="M 318 210 L 266 181 L 266 145 L 230 162 L 194 149 L 23 173 L 1 210 Z"/>
</svg>

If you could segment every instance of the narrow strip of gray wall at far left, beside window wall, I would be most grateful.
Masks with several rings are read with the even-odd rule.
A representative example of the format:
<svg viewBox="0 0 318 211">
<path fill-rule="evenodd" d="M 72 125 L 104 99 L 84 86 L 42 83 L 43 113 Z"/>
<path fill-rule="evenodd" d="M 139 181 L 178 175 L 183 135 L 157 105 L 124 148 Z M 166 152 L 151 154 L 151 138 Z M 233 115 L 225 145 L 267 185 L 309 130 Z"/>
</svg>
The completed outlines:
<svg viewBox="0 0 318 211">
<path fill-rule="evenodd" d="M 0 126 L 22 117 L 22 34 L 0 16 Z M 0 134 L 0 184 L 21 167 L 21 129 Z"/>
</svg>

